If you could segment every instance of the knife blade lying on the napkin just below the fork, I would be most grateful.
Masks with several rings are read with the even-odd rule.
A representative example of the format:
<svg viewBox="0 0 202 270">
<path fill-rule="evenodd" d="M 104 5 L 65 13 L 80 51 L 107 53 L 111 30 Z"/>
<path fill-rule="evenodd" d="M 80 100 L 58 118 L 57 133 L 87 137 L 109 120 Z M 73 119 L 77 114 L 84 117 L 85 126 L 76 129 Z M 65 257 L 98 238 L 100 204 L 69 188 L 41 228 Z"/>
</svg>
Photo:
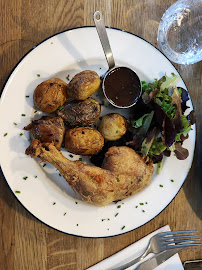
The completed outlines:
<svg viewBox="0 0 202 270">
<path fill-rule="evenodd" d="M 135 270 L 153 270 L 166 260 L 168 260 L 170 257 L 178 253 L 182 248 L 174 248 L 174 249 L 169 249 L 166 251 L 163 251 L 151 259 L 142 262 L 140 265 L 138 265 Z"/>
</svg>

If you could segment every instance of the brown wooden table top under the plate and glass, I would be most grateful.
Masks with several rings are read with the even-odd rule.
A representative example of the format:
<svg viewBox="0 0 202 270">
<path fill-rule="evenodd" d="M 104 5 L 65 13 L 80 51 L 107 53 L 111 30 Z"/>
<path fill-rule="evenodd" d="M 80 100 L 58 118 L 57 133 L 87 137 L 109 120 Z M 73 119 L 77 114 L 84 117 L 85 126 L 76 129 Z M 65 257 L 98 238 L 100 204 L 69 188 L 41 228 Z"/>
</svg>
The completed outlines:
<svg viewBox="0 0 202 270">
<path fill-rule="evenodd" d="M 174 0 L 1 0 L 0 85 L 33 46 L 59 31 L 93 25 L 100 10 L 107 26 L 135 33 L 157 46 L 161 16 Z M 85 269 L 159 227 L 197 229 L 202 238 L 202 95 L 201 63 L 175 65 L 184 79 L 197 116 L 192 168 L 170 205 L 146 225 L 124 235 L 88 239 L 60 233 L 42 224 L 14 198 L 0 176 L 0 269 Z M 9 110 L 9 108 L 8 108 Z M 184 249 L 182 261 L 202 258 L 202 248 Z"/>
</svg>

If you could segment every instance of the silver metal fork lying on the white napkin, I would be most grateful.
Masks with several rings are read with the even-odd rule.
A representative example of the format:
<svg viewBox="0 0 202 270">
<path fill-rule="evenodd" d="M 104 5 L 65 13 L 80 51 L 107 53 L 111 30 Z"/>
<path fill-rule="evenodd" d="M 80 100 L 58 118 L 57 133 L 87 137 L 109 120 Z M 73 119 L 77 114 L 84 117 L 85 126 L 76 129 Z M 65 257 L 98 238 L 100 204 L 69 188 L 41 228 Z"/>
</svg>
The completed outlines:
<svg viewBox="0 0 202 270">
<path fill-rule="evenodd" d="M 145 250 L 145 252 L 137 257 L 136 259 L 119 266 L 113 270 L 122 270 L 126 269 L 141 260 L 143 260 L 148 254 L 153 253 L 157 254 L 165 250 L 174 249 L 174 248 L 185 248 L 191 246 L 202 245 L 201 243 L 194 243 L 195 241 L 199 241 L 199 235 L 193 234 L 197 233 L 196 230 L 187 230 L 187 231 L 168 231 L 162 232 L 154 235 Z"/>
</svg>

